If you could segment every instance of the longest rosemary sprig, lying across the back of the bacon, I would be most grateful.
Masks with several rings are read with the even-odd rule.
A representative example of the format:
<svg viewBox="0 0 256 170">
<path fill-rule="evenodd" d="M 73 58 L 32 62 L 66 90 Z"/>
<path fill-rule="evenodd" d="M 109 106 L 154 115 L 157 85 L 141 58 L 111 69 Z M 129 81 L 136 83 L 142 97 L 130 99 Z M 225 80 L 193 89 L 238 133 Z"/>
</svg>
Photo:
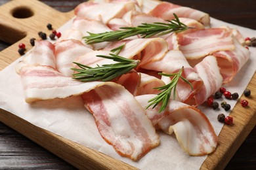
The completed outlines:
<svg viewBox="0 0 256 170">
<path fill-rule="evenodd" d="M 134 35 L 140 35 L 142 38 L 149 38 L 153 35 L 165 35 L 172 32 L 181 32 L 190 28 L 187 25 L 180 22 L 178 16 L 173 14 L 175 19 L 169 21 L 168 23 L 155 22 L 153 24 L 144 23 L 137 27 L 120 27 L 121 30 L 108 31 L 104 33 L 89 33 L 89 36 L 83 37 L 87 44 L 95 44 L 98 42 L 105 41 L 119 41 L 127 37 L 132 37 Z"/>
</svg>

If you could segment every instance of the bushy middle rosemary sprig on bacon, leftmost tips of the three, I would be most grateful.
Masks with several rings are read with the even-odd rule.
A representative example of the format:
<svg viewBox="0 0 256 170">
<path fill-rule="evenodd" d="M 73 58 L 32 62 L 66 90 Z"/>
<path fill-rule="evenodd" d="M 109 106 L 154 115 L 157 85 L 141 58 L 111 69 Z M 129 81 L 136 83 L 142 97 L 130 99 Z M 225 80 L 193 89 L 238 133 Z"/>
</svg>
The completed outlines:
<svg viewBox="0 0 256 170">
<path fill-rule="evenodd" d="M 90 82 L 101 80 L 103 82 L 110 81 L 117 76 L 121 76 L 125 73 L 128 73 L 139 64 L 140 60 L 127 59 L 116 54 L 110 54 L 110 56 L 98 55 L 100 58 L 107 58 L 117 61 L 117 63 L 104 64 L 98 67 L 89 67 L 81 63 L 74 62 L 79 69 L 72 68 L 75 73 L 73 76 L 74 79 L 80 80 L 82 82 Z"/>
</svg>

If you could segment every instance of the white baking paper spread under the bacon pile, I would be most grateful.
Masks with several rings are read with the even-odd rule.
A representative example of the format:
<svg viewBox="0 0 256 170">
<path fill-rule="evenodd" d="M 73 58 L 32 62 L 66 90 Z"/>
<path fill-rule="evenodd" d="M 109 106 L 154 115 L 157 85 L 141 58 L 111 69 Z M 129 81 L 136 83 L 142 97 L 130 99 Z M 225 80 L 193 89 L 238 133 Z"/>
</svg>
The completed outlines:
<svg viewBox="0 0 256 170">
<path fill-rule="evenodd" d="M 63 25 L 59 31 L 63 32 L 70 27 L 71 23 L 72 21 Z M 244 37 L 256 37 L 255 30 L 227 24 L 213 18 L 211 18 L 211 25 L 212 27 L 228 25 L 229 27 L 239 29 Z M 251 51 L 249 61 L 236 75 L 234 80 L 225 85 L 230 92 L 238 92 L 241 95 L 255 73 L 256 50 L 255 48 L 249 48 L 249 50 Z M 0 108 L 16 114 L 16 116 L 27 120 L 35 126 L 103 152 L 139 169 L 200 169 L 206 156 L 188 156 L 179 146 L 179 143 L 177 143 L 175 135 L 166 135 L 161 132 L 158 132 L 160 134 L 160 146 L 148 152 L 138 162 L 119 156 L 114 148 L 107 144 L 100 136 L 100 133 L 98 133 L 94 118 L 85 110 L 80 97 L 37 101 L 32 104 L 26 103 L 20 76 L 14 71 L 18 60 L 11 63 L 0 73 Z M 236 101 L 228 101 L 228 103 L 233 108 Z M 227 116 L 229 112 L 225 112 L 223 109 L 213 110 L 206 105 L 200 106 L 199 109 L 206 114 L 215 128 L 215 132 L 219 134 L 223 124 L 217 121 L 217 115 L 224 112 Z M 234 120 L 235 122 L 236 120 Z"/>
</svg>

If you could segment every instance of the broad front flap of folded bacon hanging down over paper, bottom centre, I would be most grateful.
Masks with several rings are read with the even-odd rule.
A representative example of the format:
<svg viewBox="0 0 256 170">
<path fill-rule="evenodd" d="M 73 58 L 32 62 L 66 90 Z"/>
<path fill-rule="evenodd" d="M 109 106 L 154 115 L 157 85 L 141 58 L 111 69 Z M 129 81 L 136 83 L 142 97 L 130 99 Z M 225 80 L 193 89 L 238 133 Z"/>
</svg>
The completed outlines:
<svg viewBox="0 0 256 170">
<path fill-rule="evenodd" d="M 101 86 L 82 97 L 100 134 L 121 156 L 139 160 L 158 146 L 159 137 L 145 110 L 122 86 Z"/>
</svg>

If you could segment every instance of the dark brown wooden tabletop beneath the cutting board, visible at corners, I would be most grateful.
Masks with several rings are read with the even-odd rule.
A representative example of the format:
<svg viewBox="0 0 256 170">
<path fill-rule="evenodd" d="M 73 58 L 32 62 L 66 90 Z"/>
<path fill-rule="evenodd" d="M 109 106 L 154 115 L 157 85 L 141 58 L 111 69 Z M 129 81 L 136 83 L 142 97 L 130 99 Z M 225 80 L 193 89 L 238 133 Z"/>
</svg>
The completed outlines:
<svg viewBox="0 0 256 170">
<path fill-rule="evenodd" d="M 0 5 L 8 1 L 0 0 Z M 62 12 L 73 10 L 77 4 L 82 2 L 77 0 L 42 1 Z M 185 0 L 171 2 L 202 10 L 213 18 L 225 22 L 256 29 L 256 1 Z M 0 40 L 0 51 L 10 45 Z M 254 127 L 225 169 L 256 169 L 255 152 L 256 129 Z M 0 122 L 0 169 L 75 169 L 75 167 Z"/>
</svg>

